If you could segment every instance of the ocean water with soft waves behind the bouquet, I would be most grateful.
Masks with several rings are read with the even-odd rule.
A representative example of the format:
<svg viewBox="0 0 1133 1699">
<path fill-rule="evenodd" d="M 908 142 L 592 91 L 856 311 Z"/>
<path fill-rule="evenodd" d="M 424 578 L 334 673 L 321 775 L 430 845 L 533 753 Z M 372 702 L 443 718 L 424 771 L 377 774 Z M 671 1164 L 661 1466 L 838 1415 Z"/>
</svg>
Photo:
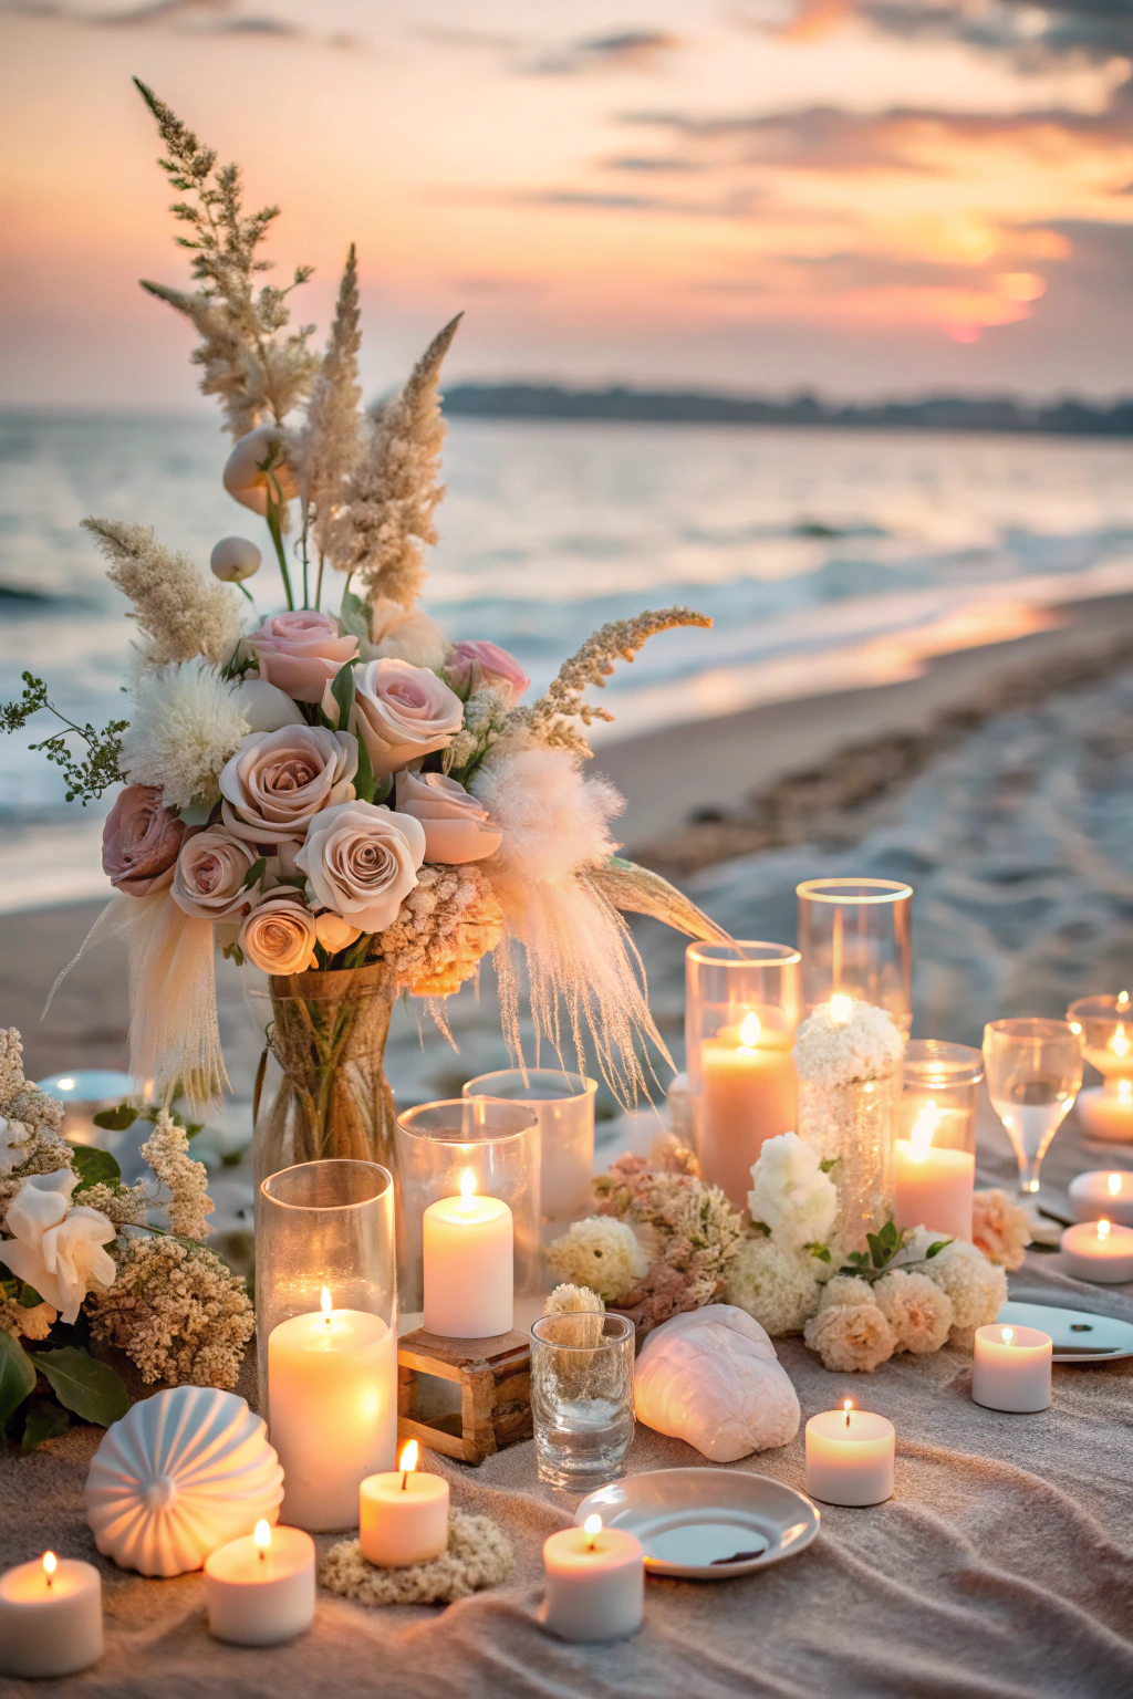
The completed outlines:
<svg viewBox="0 0 1133 1699">
<path fill-rule="evenodd" d="M 229 533 L 209 415 L 0 415 L 0 695 L 42 673 L 78 722 L 126 717 L 127 605 L 78 528 L 139 520 L 207 569 Z M 1053 603 L 1133 590 L 1133 443 L 936 433 L 457 420 L 426 605 L 544 685 L 589 632 L 688 603 L 606 693 L 630 736 L 756 702 L 914 675 L 1034 629 Z M 282 603 L 265 567 L 260 612 Z M 105 890 L 99 809 L 0 737 L 0 907 Z"/>
</svg>

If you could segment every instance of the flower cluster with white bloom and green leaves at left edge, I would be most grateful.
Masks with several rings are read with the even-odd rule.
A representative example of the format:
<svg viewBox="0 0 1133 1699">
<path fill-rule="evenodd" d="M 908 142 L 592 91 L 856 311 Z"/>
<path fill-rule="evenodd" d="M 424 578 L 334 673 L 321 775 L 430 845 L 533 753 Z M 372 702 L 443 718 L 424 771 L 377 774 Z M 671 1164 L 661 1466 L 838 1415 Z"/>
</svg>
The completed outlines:
<svg viewBox="0 0 1133 1699">
<path fill-rule="evenodd" d="M 126 1412 L 92 1339 L 143 1381 L 234 1386 L 255 1320 L 202 1244 L 212 1199 L 185 1128 L 156 1109 L 141 1149 L 153 1183 L 124 1186 L 109 1152 L 61 1137 L 63 1106 L 24 1079 L 22 1053 L 17 1030 L 0 1031 L 0 1432 L 25 1407 L 31 1451 L 66 1432 L 68 1412 L 102 1425 Z"/>
</svg>

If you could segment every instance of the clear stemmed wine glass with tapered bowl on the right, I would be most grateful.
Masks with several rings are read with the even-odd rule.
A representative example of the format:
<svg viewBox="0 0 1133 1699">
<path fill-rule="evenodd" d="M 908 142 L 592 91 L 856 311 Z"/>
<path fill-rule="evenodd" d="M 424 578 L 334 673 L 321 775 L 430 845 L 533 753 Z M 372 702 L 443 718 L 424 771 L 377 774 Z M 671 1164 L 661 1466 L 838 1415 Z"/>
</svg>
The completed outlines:
<svg viewBox="0 0 1133 1699">
<path fill-rule="evenodd" d="M 989 1021 L 984 1065 L 1019 1164 L 1019 1193 L 1036 1193 L 1043 1157 L 1082 1086 L 1080 1035 L 1070 1021 Z"/>
</svg>

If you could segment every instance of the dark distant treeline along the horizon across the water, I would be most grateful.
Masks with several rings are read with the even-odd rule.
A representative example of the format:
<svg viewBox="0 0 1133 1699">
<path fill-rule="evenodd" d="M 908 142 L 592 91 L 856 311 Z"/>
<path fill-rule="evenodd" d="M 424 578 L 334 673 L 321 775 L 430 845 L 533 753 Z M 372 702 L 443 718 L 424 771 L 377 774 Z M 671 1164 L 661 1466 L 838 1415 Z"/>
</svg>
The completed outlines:
<svg viewBox="0 0 1133 1699">
<path fill-rule="evenodd" d="M 1034 404 L 1011 396 L 924 396 L 839 406 L 814 394 L 786 401 L 695 389 L 561 389 L 557 384 L 455 384 L 445 411 L 481 418 L 645 420 L 661 425 L 843 425 L 870 430 L 1060 432 L 1133 437 L 1133 398 Z"/>
</svg>

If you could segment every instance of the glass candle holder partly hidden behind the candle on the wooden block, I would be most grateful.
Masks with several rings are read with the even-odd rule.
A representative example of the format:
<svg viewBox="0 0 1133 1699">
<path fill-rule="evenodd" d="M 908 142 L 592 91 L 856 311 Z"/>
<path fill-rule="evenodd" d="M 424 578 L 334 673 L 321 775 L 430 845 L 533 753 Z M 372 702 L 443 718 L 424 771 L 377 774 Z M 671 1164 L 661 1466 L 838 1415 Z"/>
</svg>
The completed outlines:
<svg viewBox="0 0 1133 1699">
<path fill-rule="evenodd" d="M 538 1201 L 544 1225 L 578 1222 L 591 1213 L 595 1176 L 595 1094 L 598 1082 L 562 1069 L 503 1069 L 479 1074 L 465 1098 L 525 1103 L 538 1120 Z M 554 1237 L 554 1235 L 552 1235 Z"/>
</svg>

